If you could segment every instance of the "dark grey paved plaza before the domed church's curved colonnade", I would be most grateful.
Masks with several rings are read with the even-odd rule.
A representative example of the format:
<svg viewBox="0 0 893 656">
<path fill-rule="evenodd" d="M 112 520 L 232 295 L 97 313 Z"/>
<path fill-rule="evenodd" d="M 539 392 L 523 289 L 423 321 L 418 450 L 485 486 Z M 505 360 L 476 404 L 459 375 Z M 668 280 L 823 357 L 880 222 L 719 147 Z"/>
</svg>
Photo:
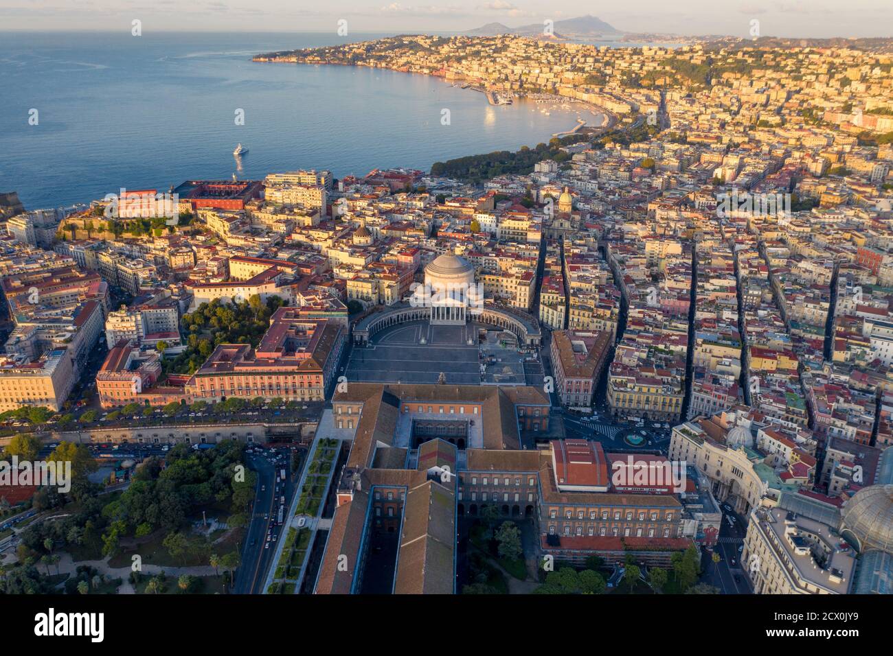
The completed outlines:
<svg viewBox="0 0 893 656">
<path fill-rule="evenodd" d="M 369 346 L 355 346 L 345 375 L 356 382 L 434 384 L 443 373 L 453 385 L 524 385 L 525 356 L 517 352 L 513 336 L 489 330 L 486 342 L 479 343 L 479 328 L 475 323 L 431 326 L 427 321 L 385 328 Z M 481 354 L 493 356 L 483 374 Z"/>
</svg>

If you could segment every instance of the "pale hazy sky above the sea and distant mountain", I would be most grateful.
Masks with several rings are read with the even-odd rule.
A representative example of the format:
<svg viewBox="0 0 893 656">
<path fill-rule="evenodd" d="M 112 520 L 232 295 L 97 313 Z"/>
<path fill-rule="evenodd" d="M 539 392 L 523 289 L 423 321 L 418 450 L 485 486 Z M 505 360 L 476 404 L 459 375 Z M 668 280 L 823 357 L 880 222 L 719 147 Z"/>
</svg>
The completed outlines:
<svg viewBox="0 0 893 656">
<path fill-rule="evenodd" d="M 893 37 L 893 0 L 0 0 L 0 31 L 432 33 L 592 14 L 626 32 L 748 37 Z"/>
</svg>

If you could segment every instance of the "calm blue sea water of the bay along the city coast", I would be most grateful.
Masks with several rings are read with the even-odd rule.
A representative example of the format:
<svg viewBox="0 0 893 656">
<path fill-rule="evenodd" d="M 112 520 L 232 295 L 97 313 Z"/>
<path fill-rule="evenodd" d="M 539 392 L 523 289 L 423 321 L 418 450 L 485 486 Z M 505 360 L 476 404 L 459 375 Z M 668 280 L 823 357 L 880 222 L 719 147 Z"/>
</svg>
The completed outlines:
<svg viewBox="0 0 893 656">
<path fill-rule="evenodd" d="M 343 40 L 0 33 L 0 191 L 18 191 L 35 209 L 234 173 L 429 170 L 452 157 L 536 145 L 575 125 L 576 111 L 547 116 L 530 102 L 491 106 L 483 94 L 422 75 L 251 62 L 259 53 Z M 32 109 L 38 125 L 29 125 Z M 244 125 L 235 121 L 239 109 Z M 239 142 L 250 151 L 242 170 L 232 155 Z"/>
</svg>

